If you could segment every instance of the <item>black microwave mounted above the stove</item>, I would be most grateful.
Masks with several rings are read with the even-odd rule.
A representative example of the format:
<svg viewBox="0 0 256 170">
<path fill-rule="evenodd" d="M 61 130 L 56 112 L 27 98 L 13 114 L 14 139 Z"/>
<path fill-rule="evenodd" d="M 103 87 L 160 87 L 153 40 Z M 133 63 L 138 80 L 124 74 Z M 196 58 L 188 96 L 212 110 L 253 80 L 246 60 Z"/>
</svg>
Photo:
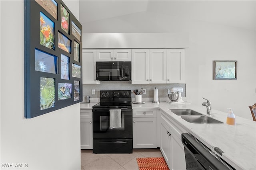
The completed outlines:
<svg viewBox="0 0 256 170">
<path fill-rule="evenodd" d="M 96 80 L 129 81 L 131 80 L 130 61 L 96 62 Z"/>
</svg>

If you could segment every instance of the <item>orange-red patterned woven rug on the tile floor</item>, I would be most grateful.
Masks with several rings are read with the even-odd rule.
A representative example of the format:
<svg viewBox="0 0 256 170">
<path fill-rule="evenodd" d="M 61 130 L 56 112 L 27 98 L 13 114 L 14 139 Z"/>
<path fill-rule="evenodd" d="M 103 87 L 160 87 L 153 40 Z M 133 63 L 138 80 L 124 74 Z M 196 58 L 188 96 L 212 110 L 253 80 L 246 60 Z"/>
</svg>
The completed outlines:
<svg viewBox="0 0 256 170">
<path fill-rule="evenodd" d="M 164 157 L 137 158 L 139 170 L 169 170 Z"/>
</svg>

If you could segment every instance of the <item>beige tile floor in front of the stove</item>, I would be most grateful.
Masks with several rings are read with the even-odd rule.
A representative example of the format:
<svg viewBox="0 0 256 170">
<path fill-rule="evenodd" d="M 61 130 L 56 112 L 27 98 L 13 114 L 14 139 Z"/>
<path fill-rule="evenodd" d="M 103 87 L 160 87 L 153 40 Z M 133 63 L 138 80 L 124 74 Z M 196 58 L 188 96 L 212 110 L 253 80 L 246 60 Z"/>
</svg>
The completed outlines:
<svg viewBox="0 0 256 170">
<path fill-rule="evenodd" d="M 136 158 L 162 157 L 160 149 L 133 149 L 130 154 L 94 154 L 81 150 L 81 170 L 138 170 Z"/>
</svg>

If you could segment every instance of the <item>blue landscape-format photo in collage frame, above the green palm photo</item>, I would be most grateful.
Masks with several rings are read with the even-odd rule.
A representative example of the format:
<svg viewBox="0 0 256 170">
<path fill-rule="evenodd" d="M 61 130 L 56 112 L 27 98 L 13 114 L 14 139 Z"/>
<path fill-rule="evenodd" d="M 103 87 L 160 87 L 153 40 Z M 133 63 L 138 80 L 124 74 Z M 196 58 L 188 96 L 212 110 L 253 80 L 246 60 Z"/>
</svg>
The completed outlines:
<svg viewBox="0 0 256 170">
<path fill-rule="evenodd" d="M 35 70 L 58 74 L 58 57 L 35 49 Z"/>
</svg>

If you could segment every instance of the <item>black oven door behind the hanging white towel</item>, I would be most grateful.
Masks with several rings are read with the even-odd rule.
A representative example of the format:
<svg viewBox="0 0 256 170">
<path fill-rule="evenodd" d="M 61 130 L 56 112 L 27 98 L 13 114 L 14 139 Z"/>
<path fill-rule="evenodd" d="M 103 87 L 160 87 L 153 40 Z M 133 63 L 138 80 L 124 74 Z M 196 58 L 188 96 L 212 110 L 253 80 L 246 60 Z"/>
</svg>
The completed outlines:
<svg viewBox="0 0 256 170">
<path fill-rule="evenodd" d="M 121 127 L 110 129 L 109 109 L 92 109 L 93 139 L 132 139 L 132 109 L 121 109 Z"/>
</svg>

